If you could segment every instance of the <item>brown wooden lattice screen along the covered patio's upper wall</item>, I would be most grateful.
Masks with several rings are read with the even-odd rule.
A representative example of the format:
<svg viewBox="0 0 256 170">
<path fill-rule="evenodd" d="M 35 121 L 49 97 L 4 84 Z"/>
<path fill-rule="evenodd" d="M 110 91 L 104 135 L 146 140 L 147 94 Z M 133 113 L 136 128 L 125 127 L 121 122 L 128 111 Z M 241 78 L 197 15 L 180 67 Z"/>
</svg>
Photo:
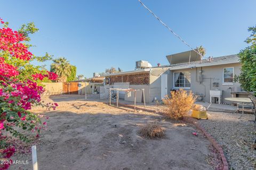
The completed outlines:
<svg viewBox="0 0 256 170">
<path fill-rule="evenodd" d="M 111 85 L 113 85 L 116 82 L 129 82 L 130 85 L 149 85 L 149 72 L 116 76 L 114 75 L 109 78 Z"/>
</svg>

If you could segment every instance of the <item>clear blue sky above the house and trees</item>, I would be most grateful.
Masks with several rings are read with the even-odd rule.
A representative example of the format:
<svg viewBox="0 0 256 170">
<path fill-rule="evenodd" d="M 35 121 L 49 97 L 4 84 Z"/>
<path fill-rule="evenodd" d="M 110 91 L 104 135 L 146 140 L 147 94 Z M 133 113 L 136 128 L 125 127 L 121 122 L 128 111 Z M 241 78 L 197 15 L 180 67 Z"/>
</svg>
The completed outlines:
<svg viewBox="0 0 256 170">
<path fill-rule="evenodd" d="M 255 0 L 142 2 L 192 47 L 203 45 L 206 56 L 238 53 L 247 28 L 256 24 Z M 64 56 L 87 78 L 111 66 L 134 70 L 138 60 L 168 64 L 166 55 L 189 50 L 137 0 L 1 0 L 0 6 L 13 29 L 35 22 L 35 55 Z"/>
</svg>

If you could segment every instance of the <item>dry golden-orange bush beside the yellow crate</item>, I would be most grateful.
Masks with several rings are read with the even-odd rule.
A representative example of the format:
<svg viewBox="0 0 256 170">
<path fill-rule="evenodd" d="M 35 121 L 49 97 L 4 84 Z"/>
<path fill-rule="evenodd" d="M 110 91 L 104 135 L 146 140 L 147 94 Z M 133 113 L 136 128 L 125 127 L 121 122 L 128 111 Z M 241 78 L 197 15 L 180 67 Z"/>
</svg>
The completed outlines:
<svg viewBox="0 0 256 170">
<path fill-rule="evenodd" d="M 163 99 L 165 104 L 163 113 L 172 119 L 182 120 L 183 115 L 193 108 L 196 97 L 191 91 L 187 92 L 183 89 L 171 91 L 171 96 Z"/>
</svg>

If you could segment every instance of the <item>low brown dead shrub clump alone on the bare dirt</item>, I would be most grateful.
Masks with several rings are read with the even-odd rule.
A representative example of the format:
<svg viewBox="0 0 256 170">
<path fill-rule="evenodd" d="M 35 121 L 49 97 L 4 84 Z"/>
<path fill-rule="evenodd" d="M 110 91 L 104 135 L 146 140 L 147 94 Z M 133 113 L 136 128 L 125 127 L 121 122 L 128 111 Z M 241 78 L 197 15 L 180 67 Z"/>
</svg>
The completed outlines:
<svg viewBox="0 0 256 170">
<path fill-rule="evenodd" d="M 165 129 L 156 123 L 147 123 L 147 125 L 139 131 L 141 137 L 149 139 L 157 139 L 164 137 Z"/>
</svg>

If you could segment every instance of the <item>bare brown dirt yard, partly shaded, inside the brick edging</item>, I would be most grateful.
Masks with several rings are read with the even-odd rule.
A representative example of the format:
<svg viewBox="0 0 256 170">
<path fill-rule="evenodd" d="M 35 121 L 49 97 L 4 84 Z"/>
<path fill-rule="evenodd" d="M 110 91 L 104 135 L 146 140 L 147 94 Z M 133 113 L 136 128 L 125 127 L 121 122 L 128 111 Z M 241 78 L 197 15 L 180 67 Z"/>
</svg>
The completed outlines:
<svg viewBox="0 0 256 170">
<path fill-rule="evenodd" d="M 192 126 L 154 113 L 134 113 L 88 101 L 79 95 L 44 100 L 57 102 L 59 107 L 56 111 L 33 109 L 50 117 L 37 143 L 39 169 L 212 169 L 205 160 L 210 142 L 192 135 L 196 131 Z M 165 138 L 140 137 L 138 131 L 148 122 L 163 126 Z M 13 159 L 29 160 L 29 164 L 10 169 L 32 169 L 31 154 Z"/>
</svg>

